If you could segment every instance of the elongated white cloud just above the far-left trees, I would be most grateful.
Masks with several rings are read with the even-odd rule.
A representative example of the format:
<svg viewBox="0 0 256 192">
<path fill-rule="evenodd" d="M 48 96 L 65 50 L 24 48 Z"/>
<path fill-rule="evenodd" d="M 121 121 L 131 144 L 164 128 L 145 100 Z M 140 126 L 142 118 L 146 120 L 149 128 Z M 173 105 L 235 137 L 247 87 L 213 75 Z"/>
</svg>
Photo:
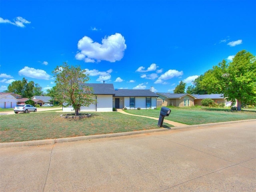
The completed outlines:
<svg viewBox="0 0 256 192">
<path fill-rule="evenodd" d="M 47 74 L 44 70 L 30 68 L 27 66 L 19 71 L 19 75 L 44 80 L 49 80 L 50 78 L 50 75 Z"/>
</svg>

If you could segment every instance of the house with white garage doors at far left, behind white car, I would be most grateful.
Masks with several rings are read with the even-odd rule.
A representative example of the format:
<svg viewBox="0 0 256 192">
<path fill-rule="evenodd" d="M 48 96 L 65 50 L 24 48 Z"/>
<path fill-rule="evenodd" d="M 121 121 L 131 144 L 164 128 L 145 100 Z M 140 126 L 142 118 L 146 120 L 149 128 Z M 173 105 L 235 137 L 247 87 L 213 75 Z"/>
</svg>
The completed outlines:
<svg viewBox="0 0 256 192">
<path fill-rule="evenodd" d="M 14 108 L 18 104 L 25 104 L 29 98 L 22 98 L 21 95 L 15 93 L 0 92 L 0 108 Z"/>
</svg>

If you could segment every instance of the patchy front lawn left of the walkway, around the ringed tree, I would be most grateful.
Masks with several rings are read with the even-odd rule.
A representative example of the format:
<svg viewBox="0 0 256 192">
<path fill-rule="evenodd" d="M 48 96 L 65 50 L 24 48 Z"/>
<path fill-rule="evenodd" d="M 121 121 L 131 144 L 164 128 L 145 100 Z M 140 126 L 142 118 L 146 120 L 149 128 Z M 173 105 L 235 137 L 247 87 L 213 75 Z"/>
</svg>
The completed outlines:
<svg viewBox="0 0 256 192">
<path fill-rule="evenodd" d="M 92 112 L 84 119 L 60 118 L 63 112 L 0 116 L 0 142 L 65 138 L 158 128 L 157 120 L 118 112 Z M 172 127 L 164 124 L 164 128 Z"/>
</svg>

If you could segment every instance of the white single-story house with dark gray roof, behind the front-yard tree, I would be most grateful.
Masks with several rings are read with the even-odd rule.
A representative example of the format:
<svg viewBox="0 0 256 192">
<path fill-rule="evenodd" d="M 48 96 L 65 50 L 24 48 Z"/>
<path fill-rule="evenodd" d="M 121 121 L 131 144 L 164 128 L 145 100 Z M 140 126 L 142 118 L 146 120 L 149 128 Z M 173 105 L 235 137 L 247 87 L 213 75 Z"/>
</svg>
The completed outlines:
<svg viewBox="0 0 256 192">
<path fill-rule="evenodd" d="M 90 106 L 82 106 L 80 111 L 98 111 L 109 112 L 113 108 L 127 109 L 149 109 L 156 108 L 157 94 L 150 90 L 131 90 L 131 89 L 114 89 L 113 84 L 87 83 L 86 86 L 93 88 L 93 98 L 96 104 Z M 64 112 L 73 111 L 72 106 L 64 107 Z"/>
</svg>

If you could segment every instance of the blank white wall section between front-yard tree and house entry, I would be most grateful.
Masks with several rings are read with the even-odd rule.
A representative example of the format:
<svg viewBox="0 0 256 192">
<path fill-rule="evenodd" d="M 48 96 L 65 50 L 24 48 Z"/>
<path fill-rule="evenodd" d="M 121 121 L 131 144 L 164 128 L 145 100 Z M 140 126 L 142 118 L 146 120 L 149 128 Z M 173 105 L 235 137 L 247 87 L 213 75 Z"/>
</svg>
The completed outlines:
<svg viewBox="0 0 256 192">
<path fill-rule="evenodd" d="M 97 96 L 97 111 L 108 112 L 113 111 L 113 96 L 112 95 L 98 95 Z"/>
</svg>

